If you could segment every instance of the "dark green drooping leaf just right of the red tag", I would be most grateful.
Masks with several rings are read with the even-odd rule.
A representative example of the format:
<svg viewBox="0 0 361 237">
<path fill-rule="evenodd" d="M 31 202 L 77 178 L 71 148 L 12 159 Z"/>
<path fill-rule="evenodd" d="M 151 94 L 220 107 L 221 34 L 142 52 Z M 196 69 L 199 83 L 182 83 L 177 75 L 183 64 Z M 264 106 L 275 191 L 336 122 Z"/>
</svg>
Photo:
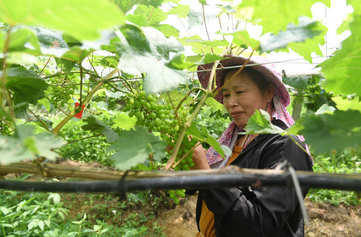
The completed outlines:
<svg viewBox="0 0 361 237">
<path fill-rule="evenodd" d="M 96 134 L 103 134 L 106 137 L 108 143 L 115 142 L 119 136 L 116 134 L 111 128 L 107 125 L 103 124 L 95 117 L 87 117 L 83 119 L 83 122 L 87 123 L 83 125 L 81 128 L 85 131 L 90 131 Z"/>
</svg>

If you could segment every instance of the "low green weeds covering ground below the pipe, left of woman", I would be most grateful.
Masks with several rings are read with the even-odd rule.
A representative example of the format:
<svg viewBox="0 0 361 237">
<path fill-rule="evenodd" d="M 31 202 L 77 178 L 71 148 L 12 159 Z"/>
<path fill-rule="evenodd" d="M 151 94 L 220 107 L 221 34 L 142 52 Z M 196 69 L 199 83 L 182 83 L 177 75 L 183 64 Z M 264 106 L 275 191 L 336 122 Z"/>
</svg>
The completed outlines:
<svg viewBox="0 0 361 237">
<path fill-rule="evenodd" d="M 26 178 L 26 177 L 24 177 Z M 2 236 L 164 236 L 163 227 L 153 221 L 152 212 L 122 216 L 122 208 L 129 203 L 162 199 L 149 192 L 129 193 L 127 200 L 118 202 L 114 195 L 89 194 L 82 197 L 82 209 L 72 215 L 72 205 L 79 201 L 73 194 L 60 196 L 57 193 L 31 193 L 17 191 L 0 192 L 0 235 Z M 103 198 L 107 204 L 96 204 Z M 83 202 L 84 200 L 84 202 Z M 90 201 L 88 201 L 90 200 Z M 101 202 L 101 203 L 102 203 Z M 115 203 L 119 203 L 114 205 Z M 130 205 L 130 204 L 129 204 Z M 88 211 L 84 213 L 84 211 Z M 94 212 L 95 214 L 90 214 Z M 118 213 L 119 212 L 119 213 Z M 101 214 L 99 214 L 101 213 Z M 108 221 L 106 221 L 106 219 Z M 121 226 L 118 225 L 122 221 Z"/>
</svg>

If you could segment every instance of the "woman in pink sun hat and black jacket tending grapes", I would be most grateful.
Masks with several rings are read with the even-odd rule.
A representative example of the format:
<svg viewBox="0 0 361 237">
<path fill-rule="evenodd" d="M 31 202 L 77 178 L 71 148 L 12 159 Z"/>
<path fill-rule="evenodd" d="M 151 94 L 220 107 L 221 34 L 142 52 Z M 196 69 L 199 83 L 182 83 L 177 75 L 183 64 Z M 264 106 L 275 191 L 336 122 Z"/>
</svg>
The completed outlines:
<svg viewBox="0 0 361 237">
<path fill-rule="evenodd" d="M 222 67 L 243 65 L 246 58 L 226 55 Z M 265 62 L 252 57 L 248 64 Z M 258 62 L 258 63 L 257 63 Z M 212 64 L 198 70 L 210 69 Z M 222 85 L 215 99 L 223 103 L 233 118 L 218 140 L 232 151 L 223 159 L 212 147 L 204 152 L 202 146 L 194 151 L 195 169 L 221 168 L 237 165 L 242 168 L 273 169 L 287 160 L 296 170 L 312 170 L 312 160 L 288 136 L 253 134 L 241 136 L 256 109 L 266 110 L 272 124 L 287 129 L 294 121 L 286 106 L 290 96 L 281 76 L 273 65 L 261 64 L 238 69 L 217 70 L 216 84 Z M 198 72 L 207 88 L 210 71 Z M 298 142 L 301 141 L 293 136 Z M 307 189 L 303 189 L 306 196 Z M 304 236 L 304 223 L 294 189 L 287 187 L 233 187 L 200 190 L 197 202 L 197 236 Z"/>
</svg>

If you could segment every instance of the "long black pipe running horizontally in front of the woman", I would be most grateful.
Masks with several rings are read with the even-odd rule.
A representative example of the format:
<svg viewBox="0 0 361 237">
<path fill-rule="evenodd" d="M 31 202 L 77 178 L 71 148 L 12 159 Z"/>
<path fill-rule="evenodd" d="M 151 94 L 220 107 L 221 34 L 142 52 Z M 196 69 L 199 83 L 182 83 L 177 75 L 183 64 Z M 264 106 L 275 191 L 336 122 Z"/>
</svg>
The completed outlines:
<svg viewBox="0 0 361 237">
<path fill-rule="evenodd" d="M 307 188 L 361 191 L 360 175 L 313 174 L 296 172 L 299 183 Z M 202 174 L 172 177 L 149 177 L 106 181 L 28 182 L 0 180 L 0 189 L 36 192 L 130 192 L 159 189 L 207 189 L 238 186 L 293 187 L 289 173 L 281 174 Z"/>
</svg>

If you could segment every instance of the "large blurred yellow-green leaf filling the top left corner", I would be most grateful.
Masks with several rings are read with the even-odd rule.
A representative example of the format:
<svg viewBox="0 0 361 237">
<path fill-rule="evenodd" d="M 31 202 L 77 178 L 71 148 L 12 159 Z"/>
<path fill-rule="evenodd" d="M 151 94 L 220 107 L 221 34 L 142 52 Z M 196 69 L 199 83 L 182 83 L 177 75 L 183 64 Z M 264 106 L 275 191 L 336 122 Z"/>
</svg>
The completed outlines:
<svg viewBox="0 0 361 237">
<path fill-rule="evenodd" d="M 123 19 L 119 8 L 105 0 L 63 0 L 61 4 L 43 0 L 0 2 L 2 22 L 61 30 L 78 40 L 95 40 L 100 30 L 122 24 Z"/>
</svg>

